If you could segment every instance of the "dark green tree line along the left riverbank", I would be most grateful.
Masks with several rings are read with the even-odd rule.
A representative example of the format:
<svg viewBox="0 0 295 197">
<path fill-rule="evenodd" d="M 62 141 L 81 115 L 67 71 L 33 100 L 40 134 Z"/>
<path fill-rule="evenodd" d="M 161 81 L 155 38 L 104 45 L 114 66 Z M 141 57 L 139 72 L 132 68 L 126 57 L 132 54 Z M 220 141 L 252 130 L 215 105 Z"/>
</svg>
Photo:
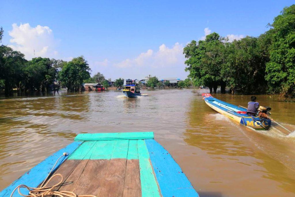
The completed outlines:
<svg viewBox="0 0 295 197">
<path fill-rule="evenodd" d="M 3 37 L 3 28 L 0 27 L 0 43 Z M 20 92 L 50 91 L 54 83 L 57 87 L 65 86 L 68 91 L 79 91 L 81 84 L 100 83 L 109 87 L 109 82 L 101 73 L 90 76 L 91 69 L 83 56 L 71 61 L 50 58 L 32 58 L 26 60 L 24 54 L 12 48 L 0 45 L 0 87 L 5 94 L 10 95 L 13 89 Z M 115 86 L 121 87 L 124 79 L 117 79 Z M 54 86 L 55 88 L 55 86 Z"/>
</svg>

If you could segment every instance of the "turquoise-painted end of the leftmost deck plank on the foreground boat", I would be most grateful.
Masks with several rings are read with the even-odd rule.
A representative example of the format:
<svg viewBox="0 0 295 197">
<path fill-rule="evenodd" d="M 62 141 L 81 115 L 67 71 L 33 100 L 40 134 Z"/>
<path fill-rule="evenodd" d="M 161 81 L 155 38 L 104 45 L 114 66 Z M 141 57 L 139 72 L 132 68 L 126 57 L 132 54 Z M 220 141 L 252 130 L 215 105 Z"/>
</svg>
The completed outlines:
<svg viewBox="0 0 295 197">
<path fill-rule="evenodd" d="M 70 155 L 68 159 L 89 159 L 96 141 L 85 141 Z"/>
</svg>

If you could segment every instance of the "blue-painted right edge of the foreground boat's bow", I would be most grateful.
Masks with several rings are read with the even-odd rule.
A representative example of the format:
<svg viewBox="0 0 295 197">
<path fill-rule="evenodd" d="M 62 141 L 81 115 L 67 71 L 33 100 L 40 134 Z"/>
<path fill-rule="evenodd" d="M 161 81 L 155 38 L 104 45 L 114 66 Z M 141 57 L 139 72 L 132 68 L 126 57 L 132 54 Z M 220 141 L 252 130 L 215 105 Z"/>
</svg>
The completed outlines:
<svg viewBox="0 0 295 197">
<path fill-rule="evenodd" d="M 171 154 L 154 139 L 145 139 L 162 196 L 199 196 Z"/>
</svg>

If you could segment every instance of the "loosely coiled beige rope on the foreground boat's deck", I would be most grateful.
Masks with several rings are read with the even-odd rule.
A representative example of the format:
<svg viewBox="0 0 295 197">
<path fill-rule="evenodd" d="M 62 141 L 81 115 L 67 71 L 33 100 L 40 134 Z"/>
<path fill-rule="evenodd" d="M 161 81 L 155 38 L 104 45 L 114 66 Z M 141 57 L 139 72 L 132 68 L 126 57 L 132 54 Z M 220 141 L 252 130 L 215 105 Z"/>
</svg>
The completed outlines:
<svg viewBox="0 0 295 197">
<path fill-rule="evenodd" d="M 77 195 L 74 192 L 71 191 L 57 191 L 54 188 L 58 187 L 58 186 L 62 186 L 63 183 L 63 176 L 61 174 L 55 174 L 52 177 L 50 177 L 50 179 L 48 179 L 48 177 L 51 175 L 51 172 L 53 171 L 54 167 L 56 166 L 57 162 L 59 161 L 60 158 L 66 156 L 67 153 L 63 153 L 62 156 L 60 156 L 55 164 L 53 165 L 52 169 L 50 170 L 49 174 L 47 175 L 47 177 L 44 179 L 44 181 L 42 182 L 42 184 L 40 185 L 40 187 L 37 188 L 33 188 L 33 187 L 28 187 L 27 185 L 18 185 L 16 188 L 14 188 L 14 190 L 12 191 L 10 197 L 13 196 L 14 192 L 17 190 L 19 195 L 21 196 L 25 196 L 25 197 L 45 197 L 45 196 L 60 196 L 60 197 L 96 197 L 94 195 Z M 60 182 L 48 187 L 47 184 L 50 182 L 50 180 L 55 177 L 55 176 L 59 176 L 61 178 Z M 44 185 L 44 183 L 46 182 L 46 180 L 48 179 L 47 183 Z M 23 193 L 21 193 L 20 188 L 26 188 L 27 190 L 29 190 L 29 195 L 25 195 Z"/>
</svg>

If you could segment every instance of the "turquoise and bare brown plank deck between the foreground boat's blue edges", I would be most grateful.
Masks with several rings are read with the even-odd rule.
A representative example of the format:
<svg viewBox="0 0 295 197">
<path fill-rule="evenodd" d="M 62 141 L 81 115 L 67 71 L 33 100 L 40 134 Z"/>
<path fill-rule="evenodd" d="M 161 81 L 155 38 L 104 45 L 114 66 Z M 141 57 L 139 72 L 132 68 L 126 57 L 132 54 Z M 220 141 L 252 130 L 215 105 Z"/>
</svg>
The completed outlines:
<svg viewBox="0 0 295 197">
<path fill-rule="evenodd" d="M 145 158 L 140 161 L 140 157 Z M 84 141 L 54 173 L 64 178 L 58 190 L 77 195 L 160 196 L 148 158 L 144 140 Z M 141 175 L 147 178 L 141 181 Z"/>
</svg>

